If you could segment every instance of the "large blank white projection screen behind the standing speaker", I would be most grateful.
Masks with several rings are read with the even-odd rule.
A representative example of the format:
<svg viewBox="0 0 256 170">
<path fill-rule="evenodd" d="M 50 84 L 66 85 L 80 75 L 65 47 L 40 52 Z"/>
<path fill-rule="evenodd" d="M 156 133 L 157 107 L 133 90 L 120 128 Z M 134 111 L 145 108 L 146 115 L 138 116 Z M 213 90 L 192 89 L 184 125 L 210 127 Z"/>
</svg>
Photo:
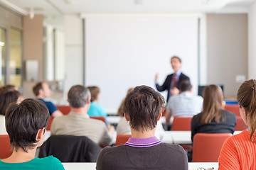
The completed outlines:
<svg viewBox="0 0 256 170">
<path fill-rule="evenodd" d="M 134 86 L 154 89 L 171 74 L 170 59 L 198 87 L 198 17 L 97 16 L 85 18 L 85 86 L 100 87 L 99 103 L 116 113 Z M 166 92 L 161 93 L 166 98 Z"/>
</svg>

